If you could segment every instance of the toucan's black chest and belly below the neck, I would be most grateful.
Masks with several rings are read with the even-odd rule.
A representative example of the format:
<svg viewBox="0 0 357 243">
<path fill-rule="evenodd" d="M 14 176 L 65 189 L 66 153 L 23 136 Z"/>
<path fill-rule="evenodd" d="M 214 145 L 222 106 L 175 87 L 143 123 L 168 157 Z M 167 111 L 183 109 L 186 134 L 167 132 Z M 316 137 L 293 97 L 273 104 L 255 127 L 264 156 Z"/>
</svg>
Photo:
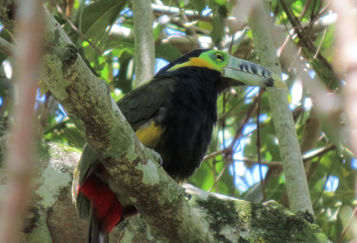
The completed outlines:
<svg viewBox="0 0 357 243">
<path fill-rule="evenodd" d="M 159 147 L 166 172 L 178 180 L 186 179 L 201 164 L 211 142 L 217 120 L 216 98 L 180 97 L 165 107 Z"/>
</svg>

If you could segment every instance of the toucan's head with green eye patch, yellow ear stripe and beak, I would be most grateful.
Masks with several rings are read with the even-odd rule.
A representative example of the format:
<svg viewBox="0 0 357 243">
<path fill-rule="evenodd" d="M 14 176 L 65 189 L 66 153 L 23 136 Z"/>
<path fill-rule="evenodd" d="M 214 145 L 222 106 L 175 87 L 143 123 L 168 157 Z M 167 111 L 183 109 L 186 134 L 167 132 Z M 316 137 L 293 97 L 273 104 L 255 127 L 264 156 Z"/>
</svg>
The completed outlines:
<svg viewBox="0 0 357 243">
<path fill-rule="evenodd" d="M 197 49 L 163 67 L 155 77 L 170 72 L 185 71 L 185 67 L 203 67 L 220 72 L 227 86 L 261 86 L 287 88 L 275 73 L 253 62 L 229 55 L 225 51 Z"/>
</svg>

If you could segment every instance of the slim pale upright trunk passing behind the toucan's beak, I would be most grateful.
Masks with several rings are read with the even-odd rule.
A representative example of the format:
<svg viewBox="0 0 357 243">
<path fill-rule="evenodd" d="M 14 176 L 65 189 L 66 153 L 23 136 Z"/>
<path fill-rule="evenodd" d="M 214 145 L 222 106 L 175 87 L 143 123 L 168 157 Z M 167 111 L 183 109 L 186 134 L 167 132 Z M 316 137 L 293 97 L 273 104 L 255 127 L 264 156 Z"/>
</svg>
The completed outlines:
<svg viewBox="0 0 357 243">
<path fill-rule="evenodd" d="M 260 63 L 263 67 L 280 75 L 281 68 L 276 55 L 275 44 L 268 34 L 270 26 L 267 23 L 270 22 L 266 17 L 267 14 L 262 1 L 258 0 L 255 3 L 256 5 L 248 20 Z M 288 105 L 287 92 L 282 88 L 267 88 L 267 93 L 279 140 L 291 211 L 296 213 L 308 210 L 313 214 L 295 123 Z"/>
</svg>

